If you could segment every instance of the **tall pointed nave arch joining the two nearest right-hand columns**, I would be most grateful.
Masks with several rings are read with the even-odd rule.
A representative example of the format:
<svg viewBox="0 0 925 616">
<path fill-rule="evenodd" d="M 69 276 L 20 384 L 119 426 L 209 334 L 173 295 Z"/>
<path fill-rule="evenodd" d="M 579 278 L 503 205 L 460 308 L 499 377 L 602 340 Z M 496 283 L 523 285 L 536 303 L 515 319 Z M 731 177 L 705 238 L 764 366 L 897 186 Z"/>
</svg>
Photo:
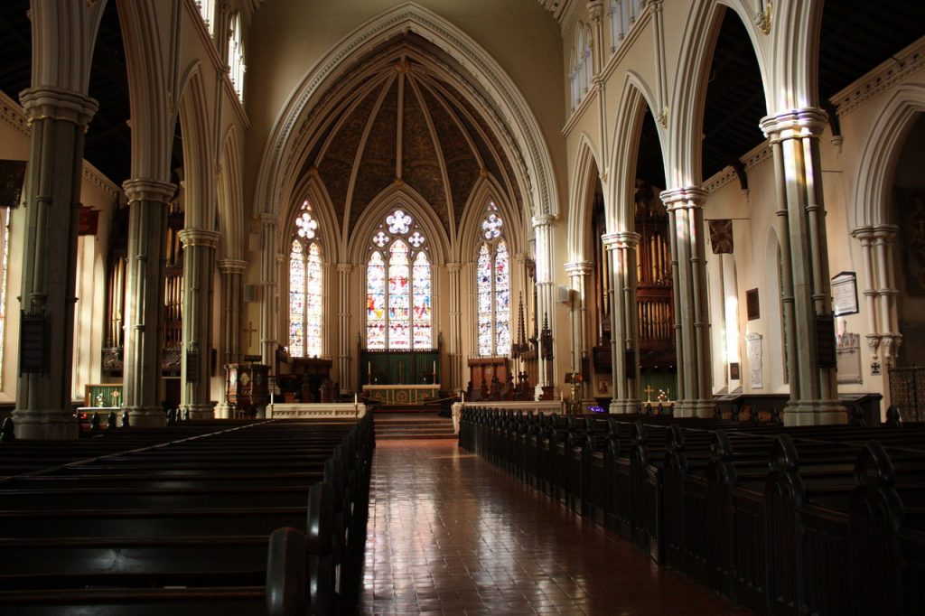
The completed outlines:
<svg viewBox="0 0 925 616">
<path fill-rule="evenodd" d="M 665 150 L 665 180 L 669 184 L 664 187 L 666 189 L 701 184 L 701 135 L 707 101 L 709 66 L 722 28 L 722 18 L 727 9 L 734 10 L 748 32 L 748 38 L 758 58 L 766 105 L 771 105 L 771 101 L 774 100 L 775 92 L 772 92 L 773 85 L 769 79 L 770 43 L 768 37 L 755 25 L 754 7 L 743 0 L 696 0 L 685 20 L 678 64 L 674 71 L 674 83 L 670 89 L 671 93 L 668 94 L 667 124 L 670 140 Z M 774 24 L 775 31 L 785 27 L 783 23 Z M 652 109 L 654 112 L 658 107 Z M 771 113 L 771 109 L 768 113 Z"/>
</svg>

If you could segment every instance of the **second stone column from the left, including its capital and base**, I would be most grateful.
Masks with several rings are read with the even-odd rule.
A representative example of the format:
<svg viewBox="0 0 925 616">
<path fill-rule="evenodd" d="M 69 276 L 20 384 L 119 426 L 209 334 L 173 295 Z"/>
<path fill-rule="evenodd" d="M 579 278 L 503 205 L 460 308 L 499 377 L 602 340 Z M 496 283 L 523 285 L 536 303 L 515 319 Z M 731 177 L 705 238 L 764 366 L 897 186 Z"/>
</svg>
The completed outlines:
<svg viewBox="0 0 925 616">
<path fill-rule="evenodd" d="M 129 252 L 126 257 L 126 326 L 122 408 L 130 425 L 165 425 L 161 408 L 164 351 L 164 238 L 167 205 L 177 187 L 129 179 Z"/>
</svg>

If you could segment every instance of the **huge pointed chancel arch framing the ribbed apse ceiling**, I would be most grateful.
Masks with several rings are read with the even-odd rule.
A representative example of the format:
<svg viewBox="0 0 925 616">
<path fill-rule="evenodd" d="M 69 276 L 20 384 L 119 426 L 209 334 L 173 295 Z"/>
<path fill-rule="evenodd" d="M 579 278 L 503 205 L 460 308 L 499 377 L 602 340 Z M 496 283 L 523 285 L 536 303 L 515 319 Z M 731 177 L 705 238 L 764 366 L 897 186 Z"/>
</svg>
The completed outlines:
<svg viewBox="0 0 925 616">
<path fill-rule="evenodd" d="M 531 214 L 558 214 L 556 181 L 549 148 L 533 111 L 512 79 L 487 51 L 464 31 L 413 2 L 391 8 L 370 19 L 335 45 L 305 74 L 280 112 L 262 156 L 256 182 L 256 213 L 278 214 L 293 169 L 292 159 L 302 150 L 302 124 L 324 92 L 378 44 L 413 31 L 445 50 L 478 83 L 466 91 L 501 138 L 509 159 L 518 161 L 516 181 Z M 306 131 L 311 132 L 311 131 Z"/>
</svg>

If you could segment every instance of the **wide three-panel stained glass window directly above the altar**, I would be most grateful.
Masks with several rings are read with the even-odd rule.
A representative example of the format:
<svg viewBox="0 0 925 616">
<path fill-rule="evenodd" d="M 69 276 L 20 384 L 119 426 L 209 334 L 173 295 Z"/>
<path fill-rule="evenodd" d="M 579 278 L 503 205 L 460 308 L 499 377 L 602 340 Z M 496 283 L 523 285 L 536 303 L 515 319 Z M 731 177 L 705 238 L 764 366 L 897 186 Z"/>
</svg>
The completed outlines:
<svg viewBox="0 0 925 616">
<path fill-rule="evenodd" d="M 366 348 L 433 349 L 427 239 L 401 208 L 376 228 L 366 262 Z"/>
</svg>

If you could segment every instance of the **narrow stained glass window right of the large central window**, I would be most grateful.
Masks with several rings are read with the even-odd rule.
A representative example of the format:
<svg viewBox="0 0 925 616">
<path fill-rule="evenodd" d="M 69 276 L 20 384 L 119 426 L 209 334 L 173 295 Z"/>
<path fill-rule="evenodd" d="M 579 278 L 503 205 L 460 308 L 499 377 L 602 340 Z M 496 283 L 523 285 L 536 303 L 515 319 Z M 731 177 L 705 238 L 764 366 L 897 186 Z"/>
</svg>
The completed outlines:
<svg viewBox="0 0 925 616">
<path fill-rule="evenodd" d="M 511 259 L 503 231 L 498 205 L 489 202 L 475 265 L 479 355 L 506 355 L 511 351 Z"/>
</svg>

